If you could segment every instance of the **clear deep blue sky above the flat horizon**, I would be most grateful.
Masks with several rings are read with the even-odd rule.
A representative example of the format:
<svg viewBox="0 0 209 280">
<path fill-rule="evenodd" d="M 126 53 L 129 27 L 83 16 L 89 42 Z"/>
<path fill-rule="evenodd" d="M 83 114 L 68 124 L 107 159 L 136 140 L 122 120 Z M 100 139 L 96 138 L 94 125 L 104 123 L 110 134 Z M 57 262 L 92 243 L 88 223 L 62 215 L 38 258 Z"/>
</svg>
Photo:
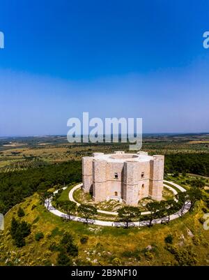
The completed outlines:
<svg viewBox="0 0 209 280">
<path fill-rule="evenodd" d="M 208 19 L 207 0 L 1 0 L 0 136 L 66 134 L 82 112 L 208 132 Z"/>
</svg>

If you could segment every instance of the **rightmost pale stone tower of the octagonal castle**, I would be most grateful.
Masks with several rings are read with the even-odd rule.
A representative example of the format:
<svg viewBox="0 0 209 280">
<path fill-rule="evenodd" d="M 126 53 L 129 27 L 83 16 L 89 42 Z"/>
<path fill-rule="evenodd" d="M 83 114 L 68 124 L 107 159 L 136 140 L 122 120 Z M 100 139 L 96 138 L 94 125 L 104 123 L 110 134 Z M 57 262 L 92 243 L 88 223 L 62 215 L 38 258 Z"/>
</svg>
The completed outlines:
<svg viewBox="0 0 209 280">
<path fill-rule="evenodd" d="M 155 155 L 150 161 L 149 196 L 153 200 L 162 200 L 164 176 L 164 156 Z"/>
</svg>

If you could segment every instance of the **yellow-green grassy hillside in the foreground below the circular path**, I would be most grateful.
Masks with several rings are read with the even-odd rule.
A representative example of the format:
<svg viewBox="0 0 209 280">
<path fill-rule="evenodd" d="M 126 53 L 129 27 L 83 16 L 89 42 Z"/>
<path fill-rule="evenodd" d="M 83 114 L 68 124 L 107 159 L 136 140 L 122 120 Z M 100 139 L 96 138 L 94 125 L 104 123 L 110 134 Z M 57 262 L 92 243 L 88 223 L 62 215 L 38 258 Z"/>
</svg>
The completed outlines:
<svg viewBox="0 0 209 280">
<path fill-rule="evenodd" d="M 22 207 L 25 216 L 17 217 Z M 63 221 L 40 205 L 38 194 L 15 205 L 5 216 L 5 230 L 0 232 L 0 265 L 56 265 L 57 251 L 63 233 L 71 233 L 79 247 L 74 265 L 208 265 L 209 230 L 203 229 L 203 202 L 192 214 L 171 221 L 168 225 L 151 228 L 109 228 L 87 226 L 83 223 Z M 32 224 L 26 245 L 17 248 L 10 236 L 10 223 L 15 216 Z M 43 233 L 40 241 L 36 233 Z M 173 244 L 165 237 L 171 235 Z M 87 242 L 82 244 L 82 237 Z"/>
</svg>

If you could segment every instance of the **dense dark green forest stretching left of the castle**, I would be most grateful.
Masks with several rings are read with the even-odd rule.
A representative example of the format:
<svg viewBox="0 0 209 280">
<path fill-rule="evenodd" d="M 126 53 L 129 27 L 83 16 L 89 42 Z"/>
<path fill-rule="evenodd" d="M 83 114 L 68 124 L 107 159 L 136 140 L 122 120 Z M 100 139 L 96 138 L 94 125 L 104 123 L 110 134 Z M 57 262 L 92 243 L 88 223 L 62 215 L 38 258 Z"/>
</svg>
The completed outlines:
<svg viewBox="0 0 209 280">
<path fill-rule="evenodd" d="M 35 191 L 49 189 L 56 184 L 82 181 L 82 163 L 68 161 L 42 168 L 0 173 L 0 212 L 5 214 Z"/>
</svg>

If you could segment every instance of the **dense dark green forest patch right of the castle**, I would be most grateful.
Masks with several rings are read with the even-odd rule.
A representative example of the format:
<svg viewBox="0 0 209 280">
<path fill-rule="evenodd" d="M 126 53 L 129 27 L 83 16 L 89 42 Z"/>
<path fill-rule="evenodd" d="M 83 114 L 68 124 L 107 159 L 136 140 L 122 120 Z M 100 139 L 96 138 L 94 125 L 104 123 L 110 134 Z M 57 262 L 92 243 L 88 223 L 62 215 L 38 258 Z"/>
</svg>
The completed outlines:
<svg viewBox="0 0 209 280">
<path fill-rule="evenodd" d="M 168 154 L 165 156 L 164 171 L 209 176 L 209 154 Z"/>
</svg>

